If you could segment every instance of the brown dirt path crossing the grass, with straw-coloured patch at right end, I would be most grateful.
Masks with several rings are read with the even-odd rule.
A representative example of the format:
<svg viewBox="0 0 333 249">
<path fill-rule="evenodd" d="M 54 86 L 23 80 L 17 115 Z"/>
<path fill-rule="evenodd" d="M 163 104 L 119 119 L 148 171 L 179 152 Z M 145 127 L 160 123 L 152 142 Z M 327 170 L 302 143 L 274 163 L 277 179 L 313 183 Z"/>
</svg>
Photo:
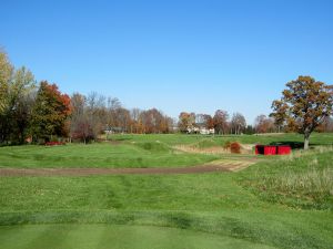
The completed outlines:
<svg viewBox="0 0 333 249">
<path fill-rule="evenodd" d="M 181 168 L 0 168 L 6 176 L 98 176 L 98 175 L 176 175 L 213 172 L 238 172 L 254 162 L 212 162 L 202 166 Z"/>
</svg>

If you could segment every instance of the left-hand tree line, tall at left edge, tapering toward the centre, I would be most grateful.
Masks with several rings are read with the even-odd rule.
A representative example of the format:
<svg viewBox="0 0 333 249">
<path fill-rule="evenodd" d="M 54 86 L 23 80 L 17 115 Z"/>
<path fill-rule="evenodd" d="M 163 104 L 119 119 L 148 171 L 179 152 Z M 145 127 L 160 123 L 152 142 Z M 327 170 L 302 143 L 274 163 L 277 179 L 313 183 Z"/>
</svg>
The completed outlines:
<svg viewBox="0 0 333 249">
<path fill-rule="evenodd" d="M 65 137 L 84 143 L 102 133 L 171 133 L 174 121 L 157 108 L 127 110 L 117 97 L 61 93 L 16 69 L 0 51 L 0 144 L 43 143 Z"/>
</svg>

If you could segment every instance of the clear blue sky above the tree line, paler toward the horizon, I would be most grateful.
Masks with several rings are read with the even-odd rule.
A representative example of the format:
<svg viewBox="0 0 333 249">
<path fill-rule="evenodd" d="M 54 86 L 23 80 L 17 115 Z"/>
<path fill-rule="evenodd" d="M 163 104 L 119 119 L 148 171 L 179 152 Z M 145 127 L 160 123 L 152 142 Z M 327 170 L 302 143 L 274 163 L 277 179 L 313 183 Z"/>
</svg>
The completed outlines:
<svg viewBox="0 0 333 249">
<path fill-rule="evenodd" d="M 0 46 L 65 93 L 128 108 L 269 114 L 287 81 L 333 84 L 331 0 L 1 0 Z"/>
</svg>

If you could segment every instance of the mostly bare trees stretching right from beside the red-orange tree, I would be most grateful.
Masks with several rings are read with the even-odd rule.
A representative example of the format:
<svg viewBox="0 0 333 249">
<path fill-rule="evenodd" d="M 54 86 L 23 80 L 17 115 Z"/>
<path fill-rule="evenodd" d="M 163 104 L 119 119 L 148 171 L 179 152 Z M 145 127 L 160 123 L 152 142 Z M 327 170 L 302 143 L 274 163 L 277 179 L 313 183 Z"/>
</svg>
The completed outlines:
<svg viewBox="0 0 333 249">
<path fill-rule="evenodd" d="M 171 133 L 173 120 L 157 108 L 127 110 L 117 97 L 105 97 L 95 92 L 71 97 L 69 135 L 82 142 L 95 139 L 107 133 Z"/>
</svg>

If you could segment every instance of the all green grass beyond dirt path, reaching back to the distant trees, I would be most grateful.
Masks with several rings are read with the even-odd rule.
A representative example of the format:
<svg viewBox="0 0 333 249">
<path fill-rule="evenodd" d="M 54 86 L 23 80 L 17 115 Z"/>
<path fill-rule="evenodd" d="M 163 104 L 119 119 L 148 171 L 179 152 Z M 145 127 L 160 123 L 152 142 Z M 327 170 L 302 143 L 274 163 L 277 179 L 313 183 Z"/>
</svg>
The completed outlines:
<svg viewBox="0 0 333 249">
<path fill-rule="evenodd" d="M 242 144 L 302 143 L 299 134 L 282 135 L 112 135 L 111 143 L 65 146 L 9 146 L 0 147 L 0 167 L 54 168 L 54 167 L 180 167 L 202 165 L 225 155 L 188 154 L 174 149 L 176 145 L 194 147 L 223 146 L 226 142 Z M 313 134 L 311 144 L 332 145 L 332 134 Z"/>
</svg>

